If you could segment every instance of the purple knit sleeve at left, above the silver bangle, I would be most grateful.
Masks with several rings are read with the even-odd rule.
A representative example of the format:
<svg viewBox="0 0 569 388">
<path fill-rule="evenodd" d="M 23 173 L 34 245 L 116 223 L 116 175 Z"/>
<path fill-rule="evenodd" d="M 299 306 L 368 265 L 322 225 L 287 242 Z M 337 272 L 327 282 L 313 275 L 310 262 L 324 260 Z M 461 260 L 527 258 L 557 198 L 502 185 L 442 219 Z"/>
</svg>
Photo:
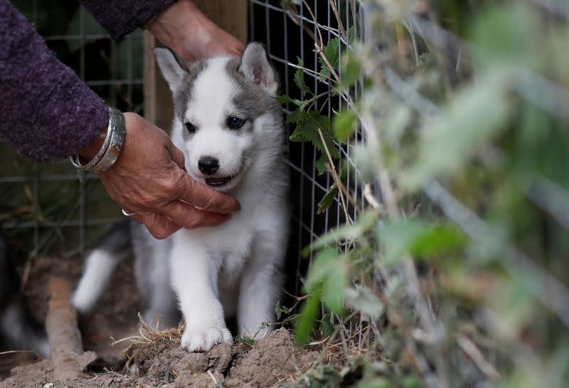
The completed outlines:
<svg viewBox="0 0 569 388">
<path fill-rule="evenodd" d="M 41 162 L 88 145 L 109 113 L 8 0 L 0 0 L 0 137 Z"/>
</svg>

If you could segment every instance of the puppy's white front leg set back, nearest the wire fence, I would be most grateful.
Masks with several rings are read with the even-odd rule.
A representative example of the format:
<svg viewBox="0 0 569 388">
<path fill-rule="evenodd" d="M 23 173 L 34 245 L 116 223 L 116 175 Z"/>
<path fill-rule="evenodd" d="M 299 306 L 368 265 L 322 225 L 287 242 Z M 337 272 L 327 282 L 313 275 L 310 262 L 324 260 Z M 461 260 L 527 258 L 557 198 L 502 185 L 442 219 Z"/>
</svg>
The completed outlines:
<svg viewBox="0 0 569 388">
<path fill-rule="evenodd" d="M 275 318 L 275 304 L 280 293 L 282 276 L 280 266 L 285 253 L 286 234 L 262 236 L 252 246 L 252 257 L 243 271 L 240 285 L 238 325 L 240 335 L 263 337 L 267 328 L 262 323 Z"/>
</svg>

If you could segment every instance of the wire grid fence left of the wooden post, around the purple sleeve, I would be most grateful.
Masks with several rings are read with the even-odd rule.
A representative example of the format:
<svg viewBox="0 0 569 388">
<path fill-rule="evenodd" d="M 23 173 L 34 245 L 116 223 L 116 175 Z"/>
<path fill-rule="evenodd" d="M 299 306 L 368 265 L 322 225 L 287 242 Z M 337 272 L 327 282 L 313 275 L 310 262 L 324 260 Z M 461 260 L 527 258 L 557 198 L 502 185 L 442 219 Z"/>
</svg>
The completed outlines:
<svg viewBox="0 0 569 388">
<path fill-rule="evenodd" d="M 137 63 L 134 53 L 142 53 L 142 33 L 116 43 L 83 6 L 75 1 L 55 3 L 48 9 L 37 0 L 14 1 L 55 55 L 101 98 L 141 112 L 142 55 Z M 66 29 L 51 28 L 58 21 L 67 22 Z M 50 251 L 82 254 L 118 219 L 119 209 L 95 175 L 80 181 L 67 161 L 36 164 L 4 143 L 0 150 L 0 228 L 18 241 L 28 258 Z"/>
</svg>

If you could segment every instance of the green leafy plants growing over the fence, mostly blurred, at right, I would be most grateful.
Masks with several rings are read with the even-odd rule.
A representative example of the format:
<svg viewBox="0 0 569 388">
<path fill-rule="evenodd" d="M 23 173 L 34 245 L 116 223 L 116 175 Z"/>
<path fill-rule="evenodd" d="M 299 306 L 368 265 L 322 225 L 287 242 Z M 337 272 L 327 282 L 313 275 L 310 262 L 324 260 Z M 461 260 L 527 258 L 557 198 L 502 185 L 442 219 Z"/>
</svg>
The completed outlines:
<svg viewBox="0 0 569 388">
<path fill-rule="evenodd" d="M 340 377 L 366 386 L 569 378 L 569 7 L 475 3 L 351 1 L 365 37 L 341 20 L 339 37 L 315 34 L 330 90 L 314 95 L 299 60 L 303 98 L 279 98 L 294 107 L 290 140 L 333 177 L 319 211 L 352 203 L 339 148 L 357 147 L 366 209 L 305 248 L 296 335 L 344 350 Z M 346 105 L 328 117 L 331 95 Z"/>
</svg>

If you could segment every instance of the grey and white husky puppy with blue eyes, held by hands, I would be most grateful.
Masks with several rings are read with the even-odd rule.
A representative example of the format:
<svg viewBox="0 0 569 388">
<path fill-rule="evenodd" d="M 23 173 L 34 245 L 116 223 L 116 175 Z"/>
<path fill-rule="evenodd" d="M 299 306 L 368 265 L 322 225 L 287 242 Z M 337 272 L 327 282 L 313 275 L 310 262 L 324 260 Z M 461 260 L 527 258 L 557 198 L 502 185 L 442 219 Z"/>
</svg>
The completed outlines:
<svg viewBox="0 0 569 388">
<path fill-rule="evenodd" d="M 262 323 L 274 316 L 288 238 L 285 128 L 275 70 L 260 43 L 250 43 L 243 58 L 188 63 L 168 48 L 154 54 L 174 96 L 171 137 L 184 152 L 188 174 L 234 196 L 241 210 L 218 226 L 182 229 L 163 241 L 132 224 L 145 318 L 159 314 L 162 323 L 176 322 L 173 289 L 186 321 L 181 346 L 187 350 L 233 342 L 224 316 L 236 315 L 240 335 L 263 335 Z M 79 310 L 92 308 L 119 259 L 111 248 L 100 246 L 87 259 L 73 297 Z"/>
</svg>

